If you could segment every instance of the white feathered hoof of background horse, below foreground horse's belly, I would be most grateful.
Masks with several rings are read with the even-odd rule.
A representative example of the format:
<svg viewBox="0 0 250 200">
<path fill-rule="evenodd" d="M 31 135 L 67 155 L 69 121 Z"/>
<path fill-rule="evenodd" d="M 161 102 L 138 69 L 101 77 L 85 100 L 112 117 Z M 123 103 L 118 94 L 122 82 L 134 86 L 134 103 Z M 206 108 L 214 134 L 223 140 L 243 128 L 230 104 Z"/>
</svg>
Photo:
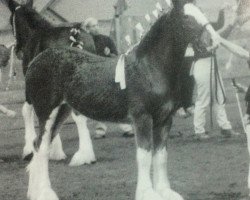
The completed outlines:
<svg viewBox="0 0 250 200">
<path fill-rule="evenodd" d="M 73 158 L 71 159 L 69 166 L 76 167 L 84 164 L 96 163 L 96 158 L 93 153 L 86 152 L 76 152 Z"/>
</svg>

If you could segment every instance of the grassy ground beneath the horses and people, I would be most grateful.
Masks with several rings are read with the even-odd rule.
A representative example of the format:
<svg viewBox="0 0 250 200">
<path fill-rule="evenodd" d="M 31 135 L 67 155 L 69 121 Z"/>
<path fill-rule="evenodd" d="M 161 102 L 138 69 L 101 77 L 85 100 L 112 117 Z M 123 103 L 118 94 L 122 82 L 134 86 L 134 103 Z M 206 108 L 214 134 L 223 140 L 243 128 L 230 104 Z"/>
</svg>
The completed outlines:
<svg viewBox="0 0 250 200">
<path fill-rule="evenodd" d="M 229 119 L 242 133 L 234 93 L 228 81 L 226 88 Z M 20 106 L 17 105 L 18 109 Z M 88 124 L 93 134 L 93 121 Z M 179 131 L 183 133 L 182 137 L 176 137 Z M 23 133 L 23 129 L 1 132 L 0 159 L 4 160 L 0 163 L 1 200 L 26 199 L 27 163 L 21 160 Z M 172 188 L 187 200 L 239 200 L 246 197 L 248 153 L 245 135 L 225 140 L 215 127 L 210 130 L 212 139 L 198 142 L 192 138 L 192 133 L 192 118 L 175 119 L 168 148 Z M 118 127 L 109 124 L 107 138 L 94 140 L 98 162 L 70 168 L 68 163 L 78 148 L 75 126 L 65 125 L 61 135 L 68 158 L 50 162 L 52 186 L 61 200 L 134 199 L 137 176 L 134 138 L 121 137 Z"/>
</svg>

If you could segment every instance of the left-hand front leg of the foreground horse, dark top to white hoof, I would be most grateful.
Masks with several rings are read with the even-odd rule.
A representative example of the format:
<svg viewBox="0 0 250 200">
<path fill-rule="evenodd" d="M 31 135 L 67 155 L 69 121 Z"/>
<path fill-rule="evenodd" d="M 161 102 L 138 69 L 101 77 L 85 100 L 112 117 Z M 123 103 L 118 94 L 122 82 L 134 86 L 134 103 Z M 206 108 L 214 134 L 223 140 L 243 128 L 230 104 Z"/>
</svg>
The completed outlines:
<svg viewBox="0 0 250 200">
<path fill-rule="evenodd" d="M 136 131 L 136 159 L 138 166 L 138 178 L 136 188 L 136 200 L 163 200 L 152 186 L 150 170 L 153 153 L 152 117 L 148 114 L 133 117 Z"/>
</svg>

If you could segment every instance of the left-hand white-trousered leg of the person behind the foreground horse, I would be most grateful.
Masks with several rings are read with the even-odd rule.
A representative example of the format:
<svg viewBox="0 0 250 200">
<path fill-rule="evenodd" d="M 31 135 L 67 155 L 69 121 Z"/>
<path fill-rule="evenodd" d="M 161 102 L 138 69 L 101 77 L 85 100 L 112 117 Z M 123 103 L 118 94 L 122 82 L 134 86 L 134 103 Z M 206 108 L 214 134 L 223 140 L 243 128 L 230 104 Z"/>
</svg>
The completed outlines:
<svg viewBox="0 0 250 200">
<path fill-rule="evenodd" d="M 205 133 L 206 109 L 210 103 L 210 59 L 201 59 L 194 65 L 193 76 L 197 86 L 194 109 L 194 132 Z"/>
</svg>

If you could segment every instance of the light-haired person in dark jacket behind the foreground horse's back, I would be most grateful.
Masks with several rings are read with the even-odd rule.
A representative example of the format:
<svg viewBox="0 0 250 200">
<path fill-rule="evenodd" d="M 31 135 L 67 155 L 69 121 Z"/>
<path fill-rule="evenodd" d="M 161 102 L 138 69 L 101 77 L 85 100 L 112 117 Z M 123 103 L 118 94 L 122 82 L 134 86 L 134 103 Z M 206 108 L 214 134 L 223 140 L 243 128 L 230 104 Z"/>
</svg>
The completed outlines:
<svg viewBox="0 0 250 200">
<path fill-rule="evenodd" d="M 103 34 L 99 33 L 98 20 L 90 17 L 84 21 L 85 30 L 90 33 L 93 37 L 96 52 L 98 55 L 103 57 L 117 57 L 118 51 L 115 46 L 114 41 Z M 124 137 L 133 137 L 134 132 L 130 124 L 119 124 L 120 129 L 123 131 Z M 102 122 L 97 122 L 95 127 L 95 139 L 104 138 L 107 132 L 106 124 Z"/>
</svg>

